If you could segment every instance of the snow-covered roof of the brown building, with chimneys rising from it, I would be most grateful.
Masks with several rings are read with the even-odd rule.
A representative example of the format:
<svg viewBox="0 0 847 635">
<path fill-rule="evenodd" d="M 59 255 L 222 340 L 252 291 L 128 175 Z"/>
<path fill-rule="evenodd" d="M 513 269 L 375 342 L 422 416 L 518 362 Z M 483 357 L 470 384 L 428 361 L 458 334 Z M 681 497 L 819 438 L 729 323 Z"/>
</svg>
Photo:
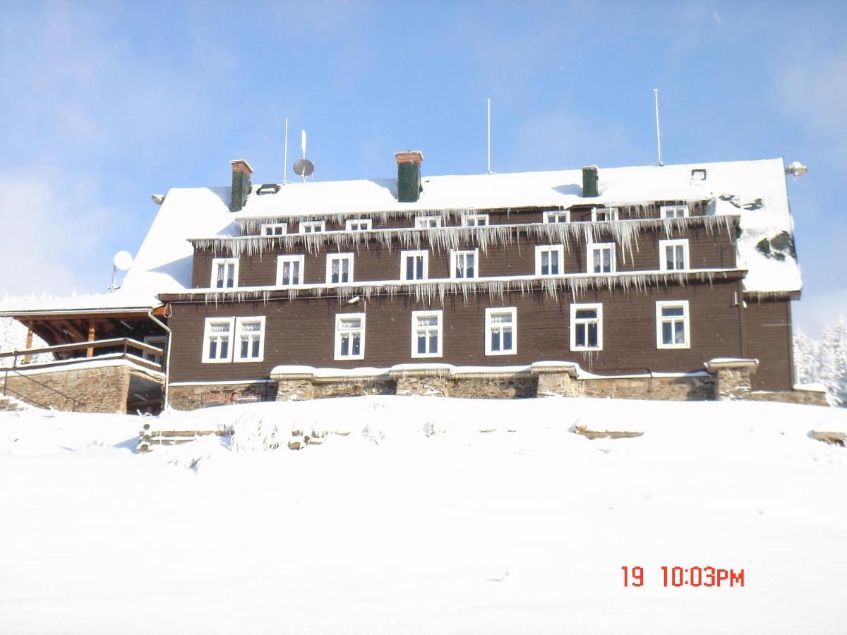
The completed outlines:
<svg viewBox="0 0 847 635">
<path fill-rule="evenodd" d="M 705 169 L 706 179 L 692 179 L 694 169 Z M 711 201 L 710 213 L 740 214 L 743 231 L 738 264 L 739 268 L 749 269 L 745 290 L 762 294 L 800 290 L 782 159 L 601 167 L 598 176 L 600 196 L 586 198 L 582 196 L 579 169 L 424 176 L 420 199 L 413 203 L 397 201 L 396 179 L 294 182 L 282 185 L 275 194 L 259 195 L 254 187 L 245 207 L 237 213 L 230 213 L 230 187 L 174 188 L 159 208 L 119 290 L 111 294 L 3 302 L 0 314 L 158 306 L 158 294 L 191 289 L 193 248 L 187 239 L 238 235 L 236 220 L 315 214 L 623 206 L 656 201 Z"/>
</svg>

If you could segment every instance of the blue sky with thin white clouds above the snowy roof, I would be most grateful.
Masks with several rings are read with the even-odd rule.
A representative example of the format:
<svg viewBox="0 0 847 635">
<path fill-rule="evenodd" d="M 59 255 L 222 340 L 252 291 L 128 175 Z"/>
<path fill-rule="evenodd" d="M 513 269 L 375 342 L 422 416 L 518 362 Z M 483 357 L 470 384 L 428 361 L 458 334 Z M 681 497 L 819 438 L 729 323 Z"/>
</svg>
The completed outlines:
<svg viewBox="0 0 847 635">
<path fill-rule="evenodd" d="M 25 6 L 26 5 L 26 6 Z M 847 314 L 844 3 L 7 3 L 0 296 L 104 290 L 169 187 L 785 157 L 817 334 Z M 296 139 L 291 142 L 293 151 Z M 289 173 L 291 174 L 291 173 Z"/>
</svg>

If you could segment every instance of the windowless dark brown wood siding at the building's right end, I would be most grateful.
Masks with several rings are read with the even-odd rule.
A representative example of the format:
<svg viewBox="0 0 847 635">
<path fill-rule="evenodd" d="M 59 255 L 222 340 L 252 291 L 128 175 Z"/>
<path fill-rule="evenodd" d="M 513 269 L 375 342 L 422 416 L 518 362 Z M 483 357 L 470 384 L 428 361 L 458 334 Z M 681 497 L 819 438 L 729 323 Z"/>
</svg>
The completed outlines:
<svg viewBox="0 0 847 635">
<path fill-rule="evenodd" d="M 748 300 L 744 311 L 745 357 L 759 360 L 752 378 L 757 390 L 790 390 L 794 386 L 791 301 Z"/>
</svg>

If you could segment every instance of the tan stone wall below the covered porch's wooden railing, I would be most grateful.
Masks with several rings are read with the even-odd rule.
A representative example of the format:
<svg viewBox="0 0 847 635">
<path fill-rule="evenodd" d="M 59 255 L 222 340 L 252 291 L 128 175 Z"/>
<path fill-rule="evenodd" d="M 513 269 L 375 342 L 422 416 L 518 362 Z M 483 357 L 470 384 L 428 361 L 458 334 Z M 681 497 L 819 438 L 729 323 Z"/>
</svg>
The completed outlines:
<svg viewBox="0 0 847 635">
<path fill-rule="evenodd" d="M 126 413 L 130 367 L 44 369 L 25 376 L 0 371 L 0 394 L 8 381 L 9 395 L 33 406 L 77 412 Z M 67 395 L 67 396 L 64 396 Z"/>
</svg>

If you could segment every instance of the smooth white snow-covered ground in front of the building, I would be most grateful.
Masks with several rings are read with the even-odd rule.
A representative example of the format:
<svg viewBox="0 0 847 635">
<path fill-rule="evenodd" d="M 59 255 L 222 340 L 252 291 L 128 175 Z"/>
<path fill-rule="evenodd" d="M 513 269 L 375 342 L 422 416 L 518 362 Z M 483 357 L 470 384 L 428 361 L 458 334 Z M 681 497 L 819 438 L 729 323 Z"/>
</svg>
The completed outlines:
<svg viewBox="0 0 847 635">
<path fill-rule="evenodd" d="M 809 438 L 842 409 L 363 397 L 143 420 L 235 434 L 137 455 L 140 417 L 0 413 L 0 632 L 847 632 L 847 449 Z M 288 450 L 292 428 L 326 435 Z M 662 566 L 744 586 L 666 588 Z"/>
</svg>

